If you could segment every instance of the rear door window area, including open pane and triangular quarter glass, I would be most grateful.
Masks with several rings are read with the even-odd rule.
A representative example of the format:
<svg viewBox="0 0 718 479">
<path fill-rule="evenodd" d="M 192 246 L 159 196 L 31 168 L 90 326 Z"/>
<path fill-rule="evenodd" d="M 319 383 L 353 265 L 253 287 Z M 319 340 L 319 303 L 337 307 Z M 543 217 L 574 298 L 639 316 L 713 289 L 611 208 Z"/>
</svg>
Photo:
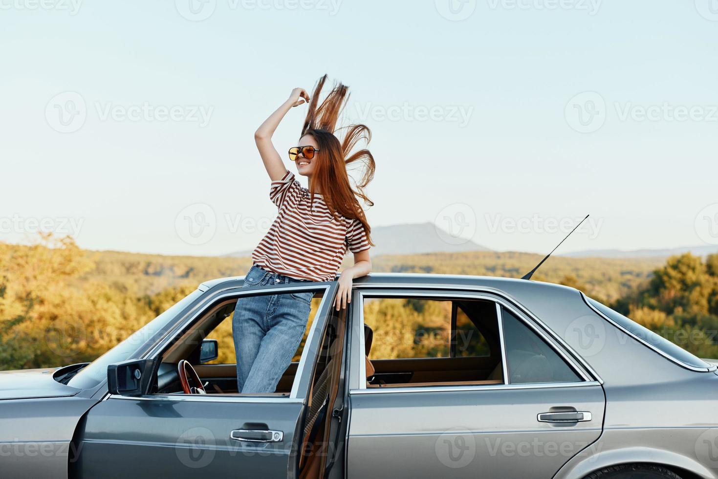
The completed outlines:
<svg viewBox="0 0 718 479">
<path fill-rule="evenodd" d="M 367 388 L 504 383 L 495 302 L 365 297 L 363 307 Z M 399 335 L 404 340 L 397 342 L 391 325 L 409 326 L 403 317 L 414 318 L 414 334 Z M 502 324 L 509 383 L 580 381 L 536 332 L 503 308 Z"/>
</svg>

